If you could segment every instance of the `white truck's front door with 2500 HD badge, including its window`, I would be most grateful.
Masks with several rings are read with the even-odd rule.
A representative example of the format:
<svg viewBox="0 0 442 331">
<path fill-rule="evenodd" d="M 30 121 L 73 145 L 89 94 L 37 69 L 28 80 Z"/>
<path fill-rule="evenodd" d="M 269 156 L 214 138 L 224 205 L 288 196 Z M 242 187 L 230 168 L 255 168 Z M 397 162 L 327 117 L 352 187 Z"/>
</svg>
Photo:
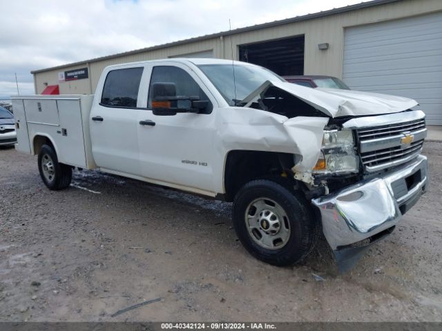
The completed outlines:
<svg viewBox="0 0 442 331">
<path fill-rule="evenodd" d="M 137 131 L 140 141 L 140 165 L 144 177 L 185 188 L 213 192 L 213 137 L 215 133 L 215 99 L 199 77 L 182 63 L 153 66 L 153 83 L 174 83 L 176 94 L 209 100 L 200 114 L 177 113 L 154 115 L 152 91 L 146 88 L 146 110 L 140 112 Z M 147 91 L 148 90 L 148 91 Z M 148 95 L 147 95 L 148 94 Z"/>
</svg>

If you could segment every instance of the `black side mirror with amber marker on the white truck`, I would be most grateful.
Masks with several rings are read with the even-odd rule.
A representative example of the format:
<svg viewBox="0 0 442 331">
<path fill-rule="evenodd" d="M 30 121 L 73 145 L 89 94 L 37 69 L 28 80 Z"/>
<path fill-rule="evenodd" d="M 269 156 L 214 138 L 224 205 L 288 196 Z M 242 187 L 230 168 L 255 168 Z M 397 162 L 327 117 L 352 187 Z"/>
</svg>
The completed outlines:
<svg viewBox="0 0 442 331">
<path fill-rule="evenodd" d="M 159 116 L 172 116 L 178 112 L 198 114 L 209 104 L 198 96 L 177 96 L 175 83 L 153 83 L 151 93 L 153 114 Z"/>
</svg>

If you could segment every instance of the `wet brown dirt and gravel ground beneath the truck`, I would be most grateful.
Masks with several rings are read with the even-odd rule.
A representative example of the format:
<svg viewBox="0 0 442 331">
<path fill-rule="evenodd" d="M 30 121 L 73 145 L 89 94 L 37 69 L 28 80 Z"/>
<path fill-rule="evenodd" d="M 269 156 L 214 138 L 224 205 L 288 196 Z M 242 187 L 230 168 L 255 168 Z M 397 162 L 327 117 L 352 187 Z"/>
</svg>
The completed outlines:
<svg viewBox="0 0 442 331">
<path fill-rule="evenodd" d="M 257 261 L 229 203 L 94 171 L 51 192 L 3 148 L 0 321 L 441 321 L 442 143 L 424 149 L 430 191 L 339 274 L 324 242 L 292 268 Z"/>
</svg>

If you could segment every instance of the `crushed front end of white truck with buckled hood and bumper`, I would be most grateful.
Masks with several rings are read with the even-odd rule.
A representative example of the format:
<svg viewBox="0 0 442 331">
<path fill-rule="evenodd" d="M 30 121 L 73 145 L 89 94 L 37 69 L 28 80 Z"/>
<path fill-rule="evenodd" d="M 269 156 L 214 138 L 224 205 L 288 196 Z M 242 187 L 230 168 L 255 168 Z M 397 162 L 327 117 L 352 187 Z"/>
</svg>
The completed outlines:
<svg viewBox="0 0 442 331">
<path fill-rule="evenodd" d="M 242 104 L 288 117 L 282 124 L 300 152 L 291 170 L 342 271 L 390 234 L 427 188 L 425 114 L 410 110 L 414 100 L 267 81 Z M 312 117 L 327 120 L 306 139 Z"/>
</svg>

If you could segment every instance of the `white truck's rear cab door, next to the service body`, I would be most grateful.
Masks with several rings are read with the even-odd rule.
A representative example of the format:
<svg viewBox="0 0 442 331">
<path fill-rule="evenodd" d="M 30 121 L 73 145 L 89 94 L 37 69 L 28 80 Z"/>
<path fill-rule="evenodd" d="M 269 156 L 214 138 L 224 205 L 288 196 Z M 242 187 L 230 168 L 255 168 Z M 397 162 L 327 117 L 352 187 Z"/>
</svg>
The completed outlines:
<svg viewBox="0 0 442 331">
<path fill-rule="evenodd" d="M 138 92 L 144 68 L 108 71 L 102 91 L 97 91 L 90 112 L 90 138 L 99 168 L 140 175 L 138 159 Z"/>
</svg>

